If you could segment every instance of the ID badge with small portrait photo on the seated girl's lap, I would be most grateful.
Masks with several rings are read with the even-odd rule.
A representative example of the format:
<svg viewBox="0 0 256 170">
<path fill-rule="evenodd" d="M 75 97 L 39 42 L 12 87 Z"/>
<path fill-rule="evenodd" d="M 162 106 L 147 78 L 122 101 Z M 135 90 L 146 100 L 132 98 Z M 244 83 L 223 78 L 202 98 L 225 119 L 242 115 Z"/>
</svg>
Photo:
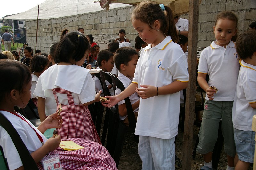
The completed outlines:
<svg viewBox="0 0 256 170">
<path fill-rule="evenodd" d="M 45 156 L 42 159 L 42 164 L 44 170 L 62 170 L 58 154 Z"/>
</svg>

